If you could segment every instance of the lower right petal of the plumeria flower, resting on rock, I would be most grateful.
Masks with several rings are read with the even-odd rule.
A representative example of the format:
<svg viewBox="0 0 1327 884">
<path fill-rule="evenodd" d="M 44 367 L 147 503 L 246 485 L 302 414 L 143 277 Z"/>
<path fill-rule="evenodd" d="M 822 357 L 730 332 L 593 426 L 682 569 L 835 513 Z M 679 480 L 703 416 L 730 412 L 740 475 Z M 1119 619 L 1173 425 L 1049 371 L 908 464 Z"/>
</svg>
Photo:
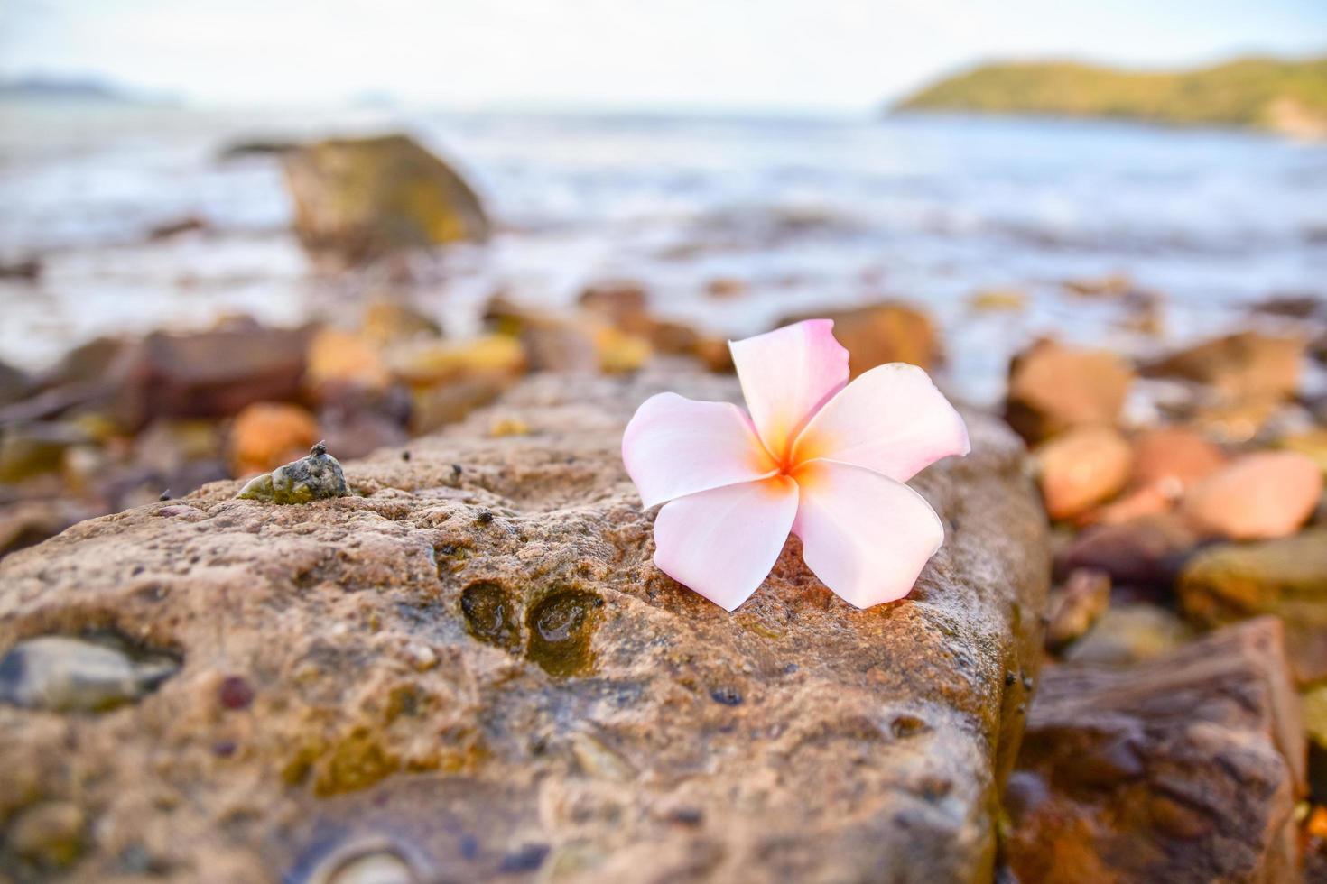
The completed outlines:
<svg viewBox="0 0 1327 884">
<path fill-rule="evenodd" d="M 802 558 L 859 608 L 908 595 L 945 541 L 930 504 L 880 473 L 816 460 L 796 480 L 802 494 L 792 533 L 802 538 Z"/>
</svg>

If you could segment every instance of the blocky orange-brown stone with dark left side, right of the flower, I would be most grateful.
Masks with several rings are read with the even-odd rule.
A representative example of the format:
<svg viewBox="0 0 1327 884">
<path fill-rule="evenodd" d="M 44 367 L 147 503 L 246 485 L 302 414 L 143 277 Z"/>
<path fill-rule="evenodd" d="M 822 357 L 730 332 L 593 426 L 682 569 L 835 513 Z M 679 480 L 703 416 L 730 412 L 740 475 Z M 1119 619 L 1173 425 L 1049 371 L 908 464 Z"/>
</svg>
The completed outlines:
<svg viewBox="0 0 1327 884">
<path fill-rule="evenodd" d="M 1038 341 L 1010 363 L 1005 419 L 1030 443 L 1115 425 L 1132 383 L 1133 370 L 1113 353 Z"/>
</svg>

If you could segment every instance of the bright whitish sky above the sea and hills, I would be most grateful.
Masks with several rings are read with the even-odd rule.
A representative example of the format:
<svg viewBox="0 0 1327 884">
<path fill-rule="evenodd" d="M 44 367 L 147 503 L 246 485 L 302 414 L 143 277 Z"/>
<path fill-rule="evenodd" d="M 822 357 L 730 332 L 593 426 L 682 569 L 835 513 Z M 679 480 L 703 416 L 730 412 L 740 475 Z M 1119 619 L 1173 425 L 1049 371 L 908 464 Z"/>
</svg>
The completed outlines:
<svg viewBox="0 0 1327 884">
<path fill-rule="evenodd" d="M 0 76 L 204 103 L 877 107 L 986 60 L 1327 54 L 1327 0 L 0 0 Z"/>
</svg>

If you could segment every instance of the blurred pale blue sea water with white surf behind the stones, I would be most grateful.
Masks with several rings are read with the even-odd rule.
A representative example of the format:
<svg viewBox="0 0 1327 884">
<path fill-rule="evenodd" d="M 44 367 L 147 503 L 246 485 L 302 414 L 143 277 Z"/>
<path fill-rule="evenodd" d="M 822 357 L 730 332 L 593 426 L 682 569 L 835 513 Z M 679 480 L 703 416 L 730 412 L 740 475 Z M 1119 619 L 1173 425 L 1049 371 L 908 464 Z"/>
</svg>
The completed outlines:
<svg viewBox="0 0 1327 884">
<path fill-rule="evenodd" d="M 414 265 L 321 276 L 288 232 L 279 160 L 228 143 L 409 131 L 454 163 L 499 232 Z M 204 231 L 151 241 L 183 217 Z M 1123 353 L 1247 325 L 1271 296 L 1327 298 L 1327 146 L 1231 131 L 945 117 L 686 118 L 0 106 L 0 359 L 29 367 L 96 334 L 353 315 L 398 293 L 449 331 L 496 292 L 575 301 L 630 278 L 654 309 L 730 337 L 884 298 L 945 331 L 963 395 L 998 395 L 1013 349 L 1054 334 Z M 1161 335 L 1066 280 L 1125 273 Z M 739 297 L 706 293 L 717 278 Z M 982 313 L 983 289 L 1027 307 Z M 1267 322 L 1263 319 L 1263 322 Z"/>
</svg>

